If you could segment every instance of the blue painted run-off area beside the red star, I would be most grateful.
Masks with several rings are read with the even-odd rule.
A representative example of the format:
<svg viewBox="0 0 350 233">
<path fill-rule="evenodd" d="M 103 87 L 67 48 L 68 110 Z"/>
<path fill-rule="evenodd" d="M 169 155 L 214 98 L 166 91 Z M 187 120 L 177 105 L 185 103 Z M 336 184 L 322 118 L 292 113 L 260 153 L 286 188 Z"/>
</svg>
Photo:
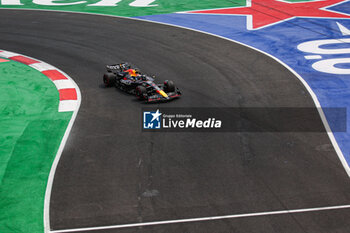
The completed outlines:
<svg viewBox="0 0 350 233">
<path fill-rule="evenodd" d="M 350 14 L 350 2 L 330 9 Z M 344 36 L 337 25 L 338 22 L 350 29 L 350 19 L 294 18 L 262 29 L 247 30 L 246 16 L 166 14 L 138 18 L 216 34 L 265 51 L 295 70 L 311 87 L 323 108 L 346 107 L 347 115 L 350 116 L 350 35 Z M 325 44 L 320 48 L 332 49 L 334 52 L 326 51 L 320 54 L 298 49 L 298 45 L 304 42 L 330 39 L 339 43 Z M 340 53 L 337 49 L 348 51 Z M 306 59 L 305 56 L 308 55 L 320 56 Z M 312 67 L 315 62 L 335 58 L 349 59 L 345 63 L 333 64 L 333 67 L 342 70 L 342 74 L 326 73 Z M 321 66 L 324 67 L 322 64 Z M 344 74 L 347 69 L 349 73 Z M 327 116 L 327 112 L 325 114 L 330 127 L 336 127 L 337 119 Z M 347 117 L 346 132 L 334 132 L 348 164 L 350 164 L 349 118 Z"/>
</svg>

